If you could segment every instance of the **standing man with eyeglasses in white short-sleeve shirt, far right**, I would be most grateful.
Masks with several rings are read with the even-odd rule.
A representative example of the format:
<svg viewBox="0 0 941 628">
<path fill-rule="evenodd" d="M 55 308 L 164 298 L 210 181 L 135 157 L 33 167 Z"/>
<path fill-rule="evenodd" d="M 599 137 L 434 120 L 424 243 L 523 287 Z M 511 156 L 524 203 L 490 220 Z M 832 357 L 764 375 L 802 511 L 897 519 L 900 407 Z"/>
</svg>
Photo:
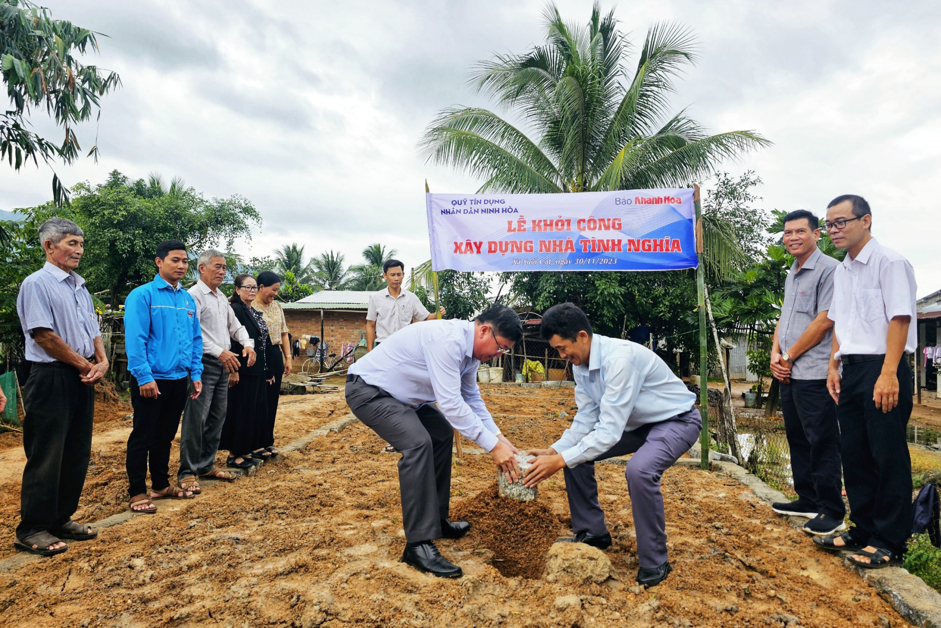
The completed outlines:
<svg viewBox="0 0 941 628">
<path fill-rule="evenodd" d="M 833 350 L 827 388 L 837 401 L 843 481 L 854 527 L 815 538 L 824 549 L 856 550 L 863 568 L 901 565 L 912 530 L 911 460 L 905 428 L 912 414 L 916 349 L 915 272 L 872 237 L 862 196 L 830 201 L 827 233 L 846 258 L 834 274 Z M 842 370 L 842 372 L 840 372 Z"/>
</svg>

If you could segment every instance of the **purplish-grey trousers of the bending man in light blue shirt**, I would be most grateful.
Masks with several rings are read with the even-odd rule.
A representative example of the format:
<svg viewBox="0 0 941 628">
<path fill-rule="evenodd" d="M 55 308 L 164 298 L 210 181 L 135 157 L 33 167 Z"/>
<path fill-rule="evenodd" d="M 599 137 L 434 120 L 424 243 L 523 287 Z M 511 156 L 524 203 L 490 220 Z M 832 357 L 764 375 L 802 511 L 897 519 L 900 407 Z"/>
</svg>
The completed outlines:
<svg viewBox="0 0 941 628">
<path fill-rule="evenodd" d="M 624 432 L 614 447 L 596 460 L 634 454 L 624 475 L 628 479 L 630 511 L 637 533 L 637 558 L 641 567 L 660 567 L 667 560 L 666 524 L 660 478 L 699 438 L 701 419 L 698 410 L 690 410 L 660 423 L 651 423 Z M 568 510 L 575 534 L 604 534 L 604 510 L 598 503 L 595 463 L 590 461 L 565 467 Z"/>
</svg>

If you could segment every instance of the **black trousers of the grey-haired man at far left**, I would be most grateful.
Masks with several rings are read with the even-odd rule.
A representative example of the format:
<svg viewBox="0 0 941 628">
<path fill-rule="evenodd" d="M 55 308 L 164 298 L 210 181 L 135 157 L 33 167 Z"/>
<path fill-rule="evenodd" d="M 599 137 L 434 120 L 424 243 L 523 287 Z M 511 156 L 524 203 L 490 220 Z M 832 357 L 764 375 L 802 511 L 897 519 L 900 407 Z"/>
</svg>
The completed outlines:
<svg viewBox="0 0 941 628">
<path fill-rule="evenodd" d="M 95 389 L 67 364 L 37 362 L 26 379 L 23 405 L 26 466 L 18 539 L 68 523 L 78 508 L 91 456 Z"/>
</svg>

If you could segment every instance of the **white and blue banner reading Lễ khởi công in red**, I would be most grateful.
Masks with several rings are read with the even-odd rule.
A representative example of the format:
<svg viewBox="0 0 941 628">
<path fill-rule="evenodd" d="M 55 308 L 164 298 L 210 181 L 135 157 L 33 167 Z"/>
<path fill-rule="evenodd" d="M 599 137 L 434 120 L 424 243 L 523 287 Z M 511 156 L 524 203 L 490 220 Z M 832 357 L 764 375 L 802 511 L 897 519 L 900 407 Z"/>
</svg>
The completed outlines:
<svg viewBox="0 0 941 628">
<path fill-rule="evenodd" d="M 427 194 L 436 271 L 695 268 L 693 190 Z"/>
</svg>

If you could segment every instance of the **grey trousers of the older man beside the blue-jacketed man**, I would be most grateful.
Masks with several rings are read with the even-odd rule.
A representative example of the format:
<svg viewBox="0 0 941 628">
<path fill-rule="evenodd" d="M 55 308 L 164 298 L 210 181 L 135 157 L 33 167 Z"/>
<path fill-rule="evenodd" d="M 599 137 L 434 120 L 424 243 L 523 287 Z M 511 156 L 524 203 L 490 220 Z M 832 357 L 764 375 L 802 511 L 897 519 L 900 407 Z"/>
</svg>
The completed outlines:
<svg viewBox="0 0 941 628">
<path fill-rule="evenodd" d="M 209 473 L 215 466 L 215 450 L 226 422 L 229 371 L 212 355 L 202 356 L 202 392 L 186 398 L 180 432 L 180 472 L 177 479 Z"/>
</svg>

